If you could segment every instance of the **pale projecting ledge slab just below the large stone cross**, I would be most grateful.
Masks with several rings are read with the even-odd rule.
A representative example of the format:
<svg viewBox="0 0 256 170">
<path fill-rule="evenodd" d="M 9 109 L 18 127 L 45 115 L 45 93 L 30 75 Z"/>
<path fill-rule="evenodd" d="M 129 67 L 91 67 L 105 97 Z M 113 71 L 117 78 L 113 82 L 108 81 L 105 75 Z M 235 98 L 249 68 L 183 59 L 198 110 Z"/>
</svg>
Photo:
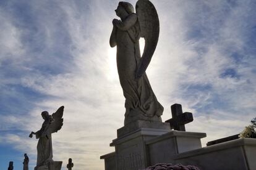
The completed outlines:
<svg viewBox="0 0 256 170">
<path fill-rule="evenodd" d="M 166 134 L 163 134 L 161 136 L 155 137 L 154 139 L 148 140 L 146 144 L 153 144 L 155 142 L 159 142 L 161 140 L 168 139 L 170 137 L 194 137 L 194 138 L 203 138 L 206 137 L 206 133 L 200 133 L 200 132 L 184 132 L 184 131 L 175 131 L 172 130 L 171 132 L 168 132 Z"/>
</svg>

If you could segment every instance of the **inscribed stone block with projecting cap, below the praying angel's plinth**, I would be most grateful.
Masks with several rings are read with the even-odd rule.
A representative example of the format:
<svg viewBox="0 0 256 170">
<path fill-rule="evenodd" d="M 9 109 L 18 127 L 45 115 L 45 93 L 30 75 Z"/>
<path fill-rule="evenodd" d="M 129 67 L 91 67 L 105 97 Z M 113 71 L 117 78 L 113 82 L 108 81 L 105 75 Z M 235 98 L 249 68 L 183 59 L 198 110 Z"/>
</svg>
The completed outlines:
<svg viewBox="0 0 256 170">
<path fill-rule="evenodd" d="M 146 168 L 149 164 L 150 153 L 148 153 L 145 142 L 169 131 L 170 129 L 141 128 L 127 136 L 114 139 L 110 145 L 116 150 L 117 169 Z"/>
</svg>

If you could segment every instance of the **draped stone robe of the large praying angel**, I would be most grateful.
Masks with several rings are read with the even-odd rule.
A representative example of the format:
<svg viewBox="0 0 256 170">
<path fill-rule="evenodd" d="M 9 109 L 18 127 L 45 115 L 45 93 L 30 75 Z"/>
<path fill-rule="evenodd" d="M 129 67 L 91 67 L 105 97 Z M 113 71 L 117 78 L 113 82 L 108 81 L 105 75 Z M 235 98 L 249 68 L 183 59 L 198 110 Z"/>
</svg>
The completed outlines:
<svg viewBox="0 0 256 170">
<path fill-rule="evenodd" d="M 134 15 L 136 14 L 130 14 Z M 158 102 L 151 89 L 146 73 L 135 79 L 135 71 L 140 61 L 139 20 L 122 21 L 116 30 L 117 70 L 126 98 L 126 114 L 124 124 L 132 121 L 150 120 L 161 121 L 163 106 Z M 136 15 L 137 18 L 137 15 Z"/>
</svg>

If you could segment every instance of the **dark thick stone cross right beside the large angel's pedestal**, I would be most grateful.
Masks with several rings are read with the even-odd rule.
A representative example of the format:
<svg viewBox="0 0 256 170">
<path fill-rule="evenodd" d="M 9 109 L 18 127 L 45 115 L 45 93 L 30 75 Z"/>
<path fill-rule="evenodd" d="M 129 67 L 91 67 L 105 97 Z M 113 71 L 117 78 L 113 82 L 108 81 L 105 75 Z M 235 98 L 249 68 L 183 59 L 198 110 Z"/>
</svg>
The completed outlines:
<svg viewBox="0 0 256 170">
<path fill-rule="evenodd" d="M 182 113 L 182 107 L 180 104 L 171 105 L 171 115 L 173 118 L 168 119 L 167 123 L 170 124 L 171 129 L 177 131 L 186 131 L 185 124 L 193 121 L 193 115 L 190 112 Z"/>
</svg>

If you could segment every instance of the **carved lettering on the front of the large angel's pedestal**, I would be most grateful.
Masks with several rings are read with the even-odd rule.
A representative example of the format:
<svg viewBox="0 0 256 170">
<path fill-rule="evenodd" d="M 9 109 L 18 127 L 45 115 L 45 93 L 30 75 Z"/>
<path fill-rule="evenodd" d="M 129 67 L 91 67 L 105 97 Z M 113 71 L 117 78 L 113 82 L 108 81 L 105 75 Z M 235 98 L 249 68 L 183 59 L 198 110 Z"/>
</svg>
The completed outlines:
<svg viewBox="0 0 256 170">
<path fill-rule="evenodd" d="M 140 168 L 142 166 L 142 156 L 140 153 L 130 153 L 126 156 L 118 156 L 117 162 L 119 170 Z"/>
</svg>

